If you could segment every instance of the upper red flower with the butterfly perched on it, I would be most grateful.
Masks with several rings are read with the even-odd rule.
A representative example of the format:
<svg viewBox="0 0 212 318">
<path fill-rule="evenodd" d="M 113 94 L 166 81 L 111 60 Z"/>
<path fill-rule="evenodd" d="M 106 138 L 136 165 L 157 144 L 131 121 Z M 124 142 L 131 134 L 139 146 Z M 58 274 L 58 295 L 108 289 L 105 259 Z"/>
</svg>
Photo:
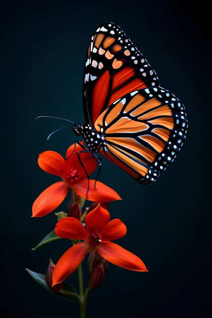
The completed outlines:
<svg viewBox="0 0 212 318">
<path fill-rule="evenodd" d="M 77 151 L 82 148 L 77 144 L 74 152 L 73 150 L 74 144 L 66 152 L 67 160 L 55 151 L 44 151 L 39 155 L 40 168 L 62 178 L 63 181 L 50 185 L 35 200 L 33 216 L 44 216 L 56 209 L 67 196 L 69 188 L 73 188 L 77 195 L 89 201 L 107 202 L 121 199 L 113 189 L 99 181 L 96 182 L 95 189 L 95 180 L 89 180 L 88 198 L 86 197 L 88 179 L 77 155 Z M 80 153 L 80 158 L 87 174 L 90 175 L 94 172 L 97 160 L 92 153 Z"/>
</svg>

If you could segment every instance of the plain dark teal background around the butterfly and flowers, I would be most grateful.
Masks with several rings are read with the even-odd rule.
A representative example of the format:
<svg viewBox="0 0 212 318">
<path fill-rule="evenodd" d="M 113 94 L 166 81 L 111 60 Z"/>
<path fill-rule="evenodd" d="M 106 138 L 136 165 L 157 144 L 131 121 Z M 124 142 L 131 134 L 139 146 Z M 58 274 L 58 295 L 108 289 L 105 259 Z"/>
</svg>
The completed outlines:
<svg viewBox="0 0 212 318">
<path fill-rule="evenodd" d="M 49 258 L 56 263 L 69 247 L 60 240 L 31 250 L 56 222 L 54 213 L 31 218 L 34 200 L 58 180 L 38 167 L 38 154 L 55 150 L 64 155 L 75 140 L 65 129 L 47 142 L 63 122 L 35 118 L 83 122 L 84 59 L 89 39 L 103 21 L 125 31 L 156 70 L 161 86 L 185 104 L 189 129 L 175 162 L 154 185 L 142 186 L 103 160 L 100 180 L 123 198 L 110 204 L 112 217 L 128 228 L 118 243 L 139 256 L 149 272 L 110 264 L 102 287 L 89 293 L 87 318 L 211 315 L 210 20 L 204 2 L 2 2 L 3 317 L 79 316 L 76 304 L 48 294 L 24 270 L 45 273 Z M 65 209 L 66 202 L 56 211 Z M 76 273 L 69 281 L 77 285 Z"/>
</svg>

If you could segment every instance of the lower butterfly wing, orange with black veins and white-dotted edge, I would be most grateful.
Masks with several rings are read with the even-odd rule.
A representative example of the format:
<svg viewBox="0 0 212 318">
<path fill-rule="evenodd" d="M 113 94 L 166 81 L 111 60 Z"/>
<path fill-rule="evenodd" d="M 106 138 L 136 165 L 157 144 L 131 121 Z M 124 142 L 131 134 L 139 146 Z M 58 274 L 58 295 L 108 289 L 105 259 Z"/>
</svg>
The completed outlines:
<svg viewBox="0 0 212 318">
<path fill-rule="evenodd" d="M 101 153 L 142 184 L 153 183 L 173 162 L 187 133 L 184 105 L 159 86 L 120 98 L 96 120 Z"/>
</svg>

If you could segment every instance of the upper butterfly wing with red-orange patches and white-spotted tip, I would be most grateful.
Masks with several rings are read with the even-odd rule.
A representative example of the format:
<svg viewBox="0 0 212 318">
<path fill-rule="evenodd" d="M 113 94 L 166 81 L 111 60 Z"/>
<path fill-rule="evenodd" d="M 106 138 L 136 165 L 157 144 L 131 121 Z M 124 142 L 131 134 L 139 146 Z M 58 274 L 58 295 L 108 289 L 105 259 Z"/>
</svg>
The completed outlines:
<svg viewBox="0 0 212 318">
<path fill-rule="evenodd" d="M 112 22 L 99 25 L 90 40 L 85 60 L 85 122 L 94 126 L 101 113 L 122 96 L 158 85 L 155 71 L 122 29 Z"/>
</svg>

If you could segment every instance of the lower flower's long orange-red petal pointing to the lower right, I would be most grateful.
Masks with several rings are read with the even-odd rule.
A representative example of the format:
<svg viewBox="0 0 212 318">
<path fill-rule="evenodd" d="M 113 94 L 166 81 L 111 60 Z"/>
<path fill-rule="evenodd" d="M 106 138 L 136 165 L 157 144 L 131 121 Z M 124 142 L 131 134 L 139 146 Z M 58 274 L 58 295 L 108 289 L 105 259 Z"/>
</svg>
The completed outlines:
<svg viewBox="0 0 212 318">
<path fill-rule="evenodd" d="M 101 242 L 97 245 L 96 250 L 102 257 L 114 265 L 130 269 L 132 271 L 148 271 L 141 259 L 115 243 Z"/>
</svg>

